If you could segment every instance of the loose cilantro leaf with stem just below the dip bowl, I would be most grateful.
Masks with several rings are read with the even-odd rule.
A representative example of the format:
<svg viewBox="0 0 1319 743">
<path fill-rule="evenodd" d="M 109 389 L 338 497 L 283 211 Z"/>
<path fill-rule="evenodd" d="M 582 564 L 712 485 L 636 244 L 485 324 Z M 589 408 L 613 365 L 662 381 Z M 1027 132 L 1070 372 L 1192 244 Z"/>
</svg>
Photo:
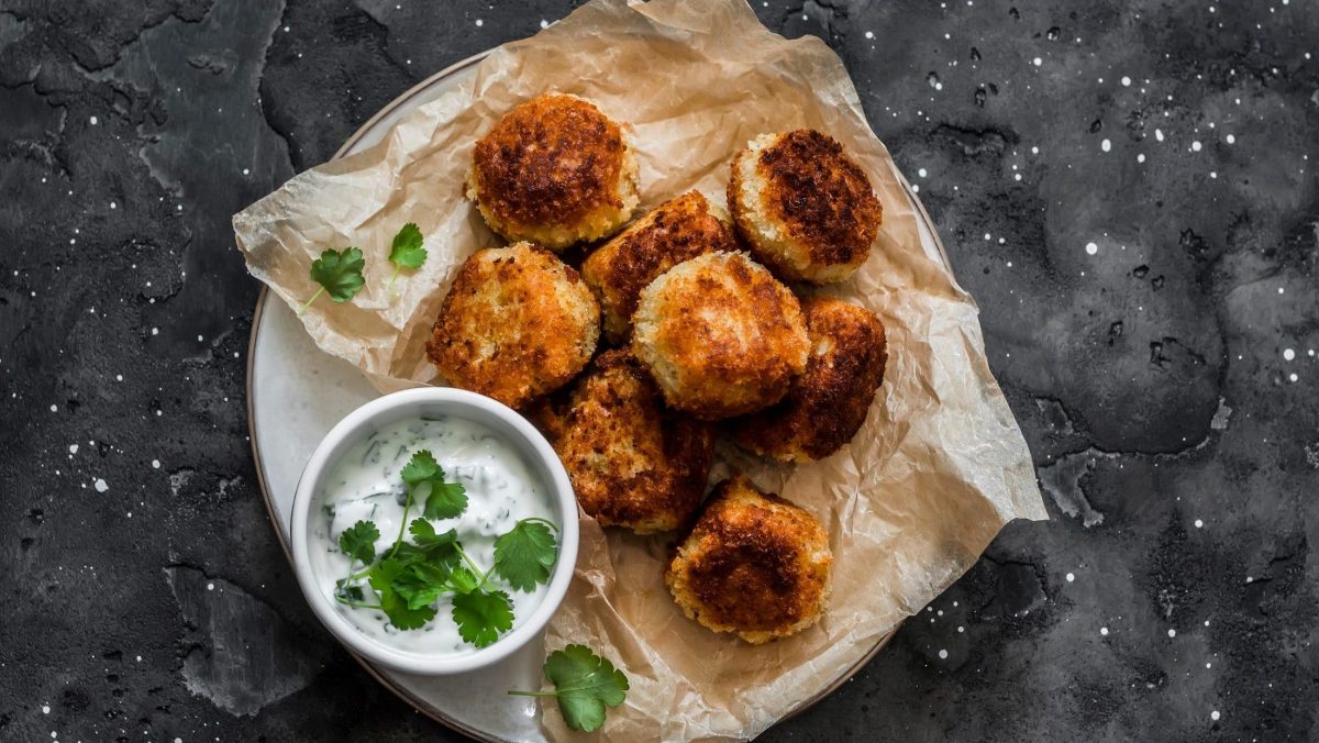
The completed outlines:
<svg viewBox="0 0 1319 743">
<path fill-rule="evenodd" d="M 605 706 L 627 698 L 628 677 L 608 659 L 586 645 L 568 645 L 545 659 L 545 677 L 553 692 L 509 692 L 518 697 L 555 697 L 563 722 L 572 730 L 592 732 L 604 725 Z"/>
</svg>

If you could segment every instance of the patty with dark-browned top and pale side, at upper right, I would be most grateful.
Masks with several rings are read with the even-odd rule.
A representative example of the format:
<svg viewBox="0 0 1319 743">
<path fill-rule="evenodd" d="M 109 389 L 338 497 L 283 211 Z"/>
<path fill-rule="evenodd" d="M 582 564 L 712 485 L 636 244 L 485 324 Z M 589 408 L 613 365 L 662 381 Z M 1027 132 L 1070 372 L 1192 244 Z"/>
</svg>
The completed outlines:
<svg viewBox="0 0 1319 743">
<path fill-rule="evenodd" d="M 756 260 L 811 284 L 856 273 L 884 220 L 865 172 L 815 129 L 748 143 L 733 157 L 728 211 Z"/>
</svg>

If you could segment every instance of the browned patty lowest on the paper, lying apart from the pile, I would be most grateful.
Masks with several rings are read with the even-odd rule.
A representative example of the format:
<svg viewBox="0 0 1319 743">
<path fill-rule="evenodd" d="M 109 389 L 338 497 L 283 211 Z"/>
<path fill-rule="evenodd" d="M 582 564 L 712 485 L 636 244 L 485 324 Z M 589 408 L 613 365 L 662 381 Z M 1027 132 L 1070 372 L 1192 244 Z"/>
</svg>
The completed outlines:
<svg viewBox="0 0 1319 743">
<path fill-rule="evenodd" d="M 819 620 L 832 564 L 815 516 L 736 475 L 715 487 L 665 583 L 689 618 L 758 645 Z"/>
</svg>

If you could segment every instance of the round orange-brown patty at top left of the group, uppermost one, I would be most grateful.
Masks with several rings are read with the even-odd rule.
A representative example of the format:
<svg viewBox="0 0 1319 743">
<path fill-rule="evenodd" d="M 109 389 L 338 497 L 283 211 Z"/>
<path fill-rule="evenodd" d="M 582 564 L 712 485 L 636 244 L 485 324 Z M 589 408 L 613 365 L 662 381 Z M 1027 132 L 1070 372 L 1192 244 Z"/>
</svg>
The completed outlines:
<svg viewBox="0 0 1319 743">
<path fill-rule="evenodd" d="M 624 128 L 594 103 L 545 94 L 476 141 L 467 197 L 491 230 L 558 251 L 611 235 L 632 216 L 637 160 Z"/>
</svg>

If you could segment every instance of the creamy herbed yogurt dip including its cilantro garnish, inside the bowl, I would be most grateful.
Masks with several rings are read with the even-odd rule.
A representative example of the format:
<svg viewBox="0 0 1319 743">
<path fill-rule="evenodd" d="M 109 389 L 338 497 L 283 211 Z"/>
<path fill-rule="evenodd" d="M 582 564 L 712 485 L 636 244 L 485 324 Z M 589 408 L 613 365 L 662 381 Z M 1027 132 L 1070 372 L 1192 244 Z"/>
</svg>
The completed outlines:
<svg viewBox="0 0 1319 743">
<path fill-rule="evenodd" d="M 462 656 L 543 600 L 558 557 L 547 488 L 483 424 L 405 420 L 350 449 L 311 516 L 321 590 L 364 635 Z"/>
</svg>

